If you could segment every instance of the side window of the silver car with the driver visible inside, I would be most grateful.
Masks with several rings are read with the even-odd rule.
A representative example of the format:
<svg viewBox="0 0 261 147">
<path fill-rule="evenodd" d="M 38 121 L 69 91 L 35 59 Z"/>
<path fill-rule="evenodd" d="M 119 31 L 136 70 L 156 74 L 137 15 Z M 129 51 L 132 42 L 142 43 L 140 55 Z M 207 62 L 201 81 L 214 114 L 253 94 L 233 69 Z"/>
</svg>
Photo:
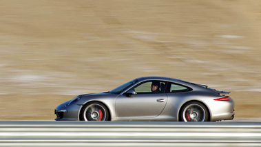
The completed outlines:
<svg viewBox="0 0 261 147">
<path fill-rule="evenodd" d="M 145 83 L 136 86 L 134 90 L 137 94 L 163 93 L 165 92 L 165 87 L 165 81 L 146 81 Z"/>
</svg>

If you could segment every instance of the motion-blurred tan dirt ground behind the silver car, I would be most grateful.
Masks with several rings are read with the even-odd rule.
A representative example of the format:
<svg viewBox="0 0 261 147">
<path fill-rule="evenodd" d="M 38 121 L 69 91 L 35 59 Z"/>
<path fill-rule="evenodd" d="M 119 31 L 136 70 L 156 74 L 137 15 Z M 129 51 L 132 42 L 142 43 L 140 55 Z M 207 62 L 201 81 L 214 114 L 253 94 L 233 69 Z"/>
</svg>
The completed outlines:
<svg viewBox="0 0 261 147">
<path fill-rule="evenodd" d="M 76 95 L 163 76 L 261 117 L 261 1 L 0 1 L 0 119 L 53 120 Z"/>
</svg>

